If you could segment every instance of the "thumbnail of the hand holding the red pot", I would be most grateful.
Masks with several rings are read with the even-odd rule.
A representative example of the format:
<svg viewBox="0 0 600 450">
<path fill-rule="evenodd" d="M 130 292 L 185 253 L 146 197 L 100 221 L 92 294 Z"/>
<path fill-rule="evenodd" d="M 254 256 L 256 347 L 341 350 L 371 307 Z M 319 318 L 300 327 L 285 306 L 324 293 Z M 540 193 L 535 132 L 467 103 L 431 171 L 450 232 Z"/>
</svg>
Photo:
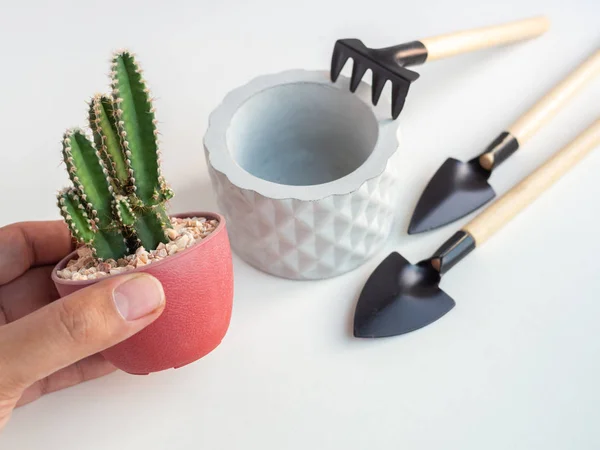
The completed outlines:
<svg viewBox="0 0 600 450">
<path fill-rule="evenodd" d="M 125 320 L 147 316 L 165 301 L 162 285 L 150 276 L 136 276 L 125 281 L 115 288 L 113 297 Z"/>
</svg>

